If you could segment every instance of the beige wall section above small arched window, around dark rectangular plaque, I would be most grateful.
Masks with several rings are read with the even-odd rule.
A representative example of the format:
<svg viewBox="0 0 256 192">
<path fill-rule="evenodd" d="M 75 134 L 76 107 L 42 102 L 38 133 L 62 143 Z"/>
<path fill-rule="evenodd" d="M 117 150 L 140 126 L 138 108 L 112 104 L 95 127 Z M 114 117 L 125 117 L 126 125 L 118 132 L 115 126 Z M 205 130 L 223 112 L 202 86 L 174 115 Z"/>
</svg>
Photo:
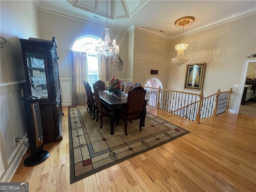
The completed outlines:
<svg viewBox="0 0 256 192">
<path fill-rule="evenodd" d="M 132 83 L 143 84 L 150 77 L 156 77 L 167 86 L 170 41 L 138 30 L 134 31 L 134 52 Z M 150 75 L 150 70 L 158 70 L 158 75 Z"/>
</svg>

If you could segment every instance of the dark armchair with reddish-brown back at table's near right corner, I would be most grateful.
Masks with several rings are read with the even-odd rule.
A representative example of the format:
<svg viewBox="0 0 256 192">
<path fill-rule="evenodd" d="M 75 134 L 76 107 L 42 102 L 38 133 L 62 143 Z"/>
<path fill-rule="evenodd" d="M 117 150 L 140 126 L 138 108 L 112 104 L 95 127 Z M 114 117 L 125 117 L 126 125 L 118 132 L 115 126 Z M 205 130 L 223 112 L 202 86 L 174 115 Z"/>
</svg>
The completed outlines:
<svg viewBox="0 0 256 192">
<path fill-rule="evenodd" d="M 116 126 L 119 119 L 124 120 L 124 133 L 127 136 L 128 121 L 140 120 L 140 131 L 142 131 L 142 111 L 144 107 L 146 90 L 142 86 L 138 86 L 128 92 L 127 108 L 117 113 Z"/>
</svg>

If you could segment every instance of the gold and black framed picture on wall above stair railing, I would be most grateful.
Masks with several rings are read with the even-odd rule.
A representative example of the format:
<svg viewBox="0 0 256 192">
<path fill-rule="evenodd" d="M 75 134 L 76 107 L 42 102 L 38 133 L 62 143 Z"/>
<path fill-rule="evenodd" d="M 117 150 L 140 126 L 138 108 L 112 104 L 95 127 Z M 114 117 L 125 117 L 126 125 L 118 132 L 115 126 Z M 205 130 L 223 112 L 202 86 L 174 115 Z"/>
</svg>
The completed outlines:
<svg viewBox="0 0 256 192">
<path fill-rule="evenodd" d="M 206 63 L 187 64 L 184 89 L 202 90 Z"/>
</svg>

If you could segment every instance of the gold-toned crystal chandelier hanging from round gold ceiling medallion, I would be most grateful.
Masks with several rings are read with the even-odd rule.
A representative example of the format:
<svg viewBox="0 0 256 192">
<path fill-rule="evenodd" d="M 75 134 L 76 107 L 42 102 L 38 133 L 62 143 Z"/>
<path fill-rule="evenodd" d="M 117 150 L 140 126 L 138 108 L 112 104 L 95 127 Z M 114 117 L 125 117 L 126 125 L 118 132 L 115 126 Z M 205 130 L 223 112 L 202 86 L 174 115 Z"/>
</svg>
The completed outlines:
<svg viewBox="0 0 256 192">
<path fill-rule="evenodd" d="M 183 38 L 183 31 L 184 31 L 184 26 L 192 24 L 194 22 L 195 18 L 192 16 L 186 16 L 177 19 L 174 24 L 178 27 L 182 27 L 182 38 Z M 178 44 L 175 46 L 175 49 L 178 51 L 177 57 L 172 58 L 172 63 L 177 64 L 177 65 L 182 65 L 186 62 L 188 62 L 188 58 L 184 57 L 184 50 L 188 48 L 188 44 Z"/>
</svg>

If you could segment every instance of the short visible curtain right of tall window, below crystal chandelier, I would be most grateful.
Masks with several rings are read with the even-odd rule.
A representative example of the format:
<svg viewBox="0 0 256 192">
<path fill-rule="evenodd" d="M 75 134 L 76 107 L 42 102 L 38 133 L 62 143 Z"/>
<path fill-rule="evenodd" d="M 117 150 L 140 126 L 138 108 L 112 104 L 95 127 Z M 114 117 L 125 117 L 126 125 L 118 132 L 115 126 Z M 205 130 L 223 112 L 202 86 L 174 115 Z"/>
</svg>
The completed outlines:
<svg viewBox="0 0 256 192">
<path fill-rule="evenodd" d="M 99 79 L 103 82 L 112 78 L 112 58 L 98 56 Z"/>
</svg>

